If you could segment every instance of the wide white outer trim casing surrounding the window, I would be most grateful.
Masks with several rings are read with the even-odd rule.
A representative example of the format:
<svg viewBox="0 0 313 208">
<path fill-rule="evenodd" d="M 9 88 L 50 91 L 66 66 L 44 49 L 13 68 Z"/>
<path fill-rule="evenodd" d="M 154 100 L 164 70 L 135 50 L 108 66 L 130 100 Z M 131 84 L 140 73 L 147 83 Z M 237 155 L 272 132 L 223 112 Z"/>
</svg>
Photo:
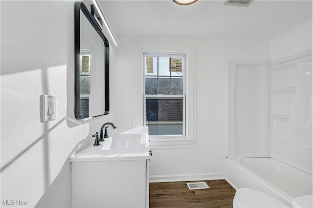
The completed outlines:
<svg viewBox="0 0 313 208">
<path fill-rule="evenodd" d="M 153 139 L 150 149 L 185 149 L 198 146 L 198 54 L 196 42 L 164 41 L 163 39 L 137 39 L 132 42 L 133 70 L 128 74 L 134 83 L 134 94 L 130 106 L 132 127 L 143 126 L 144 60 L 143 53 L 186 54 L 186 138 Z M 125 65 L 127 67 L 127 65 Z"/>
</svg>

